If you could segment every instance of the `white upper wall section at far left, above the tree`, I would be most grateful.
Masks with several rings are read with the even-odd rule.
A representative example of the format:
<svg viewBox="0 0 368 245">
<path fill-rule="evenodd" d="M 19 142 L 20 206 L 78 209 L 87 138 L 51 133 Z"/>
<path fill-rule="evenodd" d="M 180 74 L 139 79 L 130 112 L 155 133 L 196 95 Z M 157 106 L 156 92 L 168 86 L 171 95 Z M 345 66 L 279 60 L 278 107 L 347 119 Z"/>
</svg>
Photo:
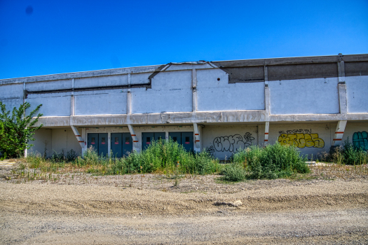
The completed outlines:
<svg viewBox="0 0 368 245">
<path fill-rule="evenodd" d="M 0 101 L 5 104 L 7 111 L 13 111 L 13 108 L 23 103 L 23 84 L 1 85 Z"/>
</svg>

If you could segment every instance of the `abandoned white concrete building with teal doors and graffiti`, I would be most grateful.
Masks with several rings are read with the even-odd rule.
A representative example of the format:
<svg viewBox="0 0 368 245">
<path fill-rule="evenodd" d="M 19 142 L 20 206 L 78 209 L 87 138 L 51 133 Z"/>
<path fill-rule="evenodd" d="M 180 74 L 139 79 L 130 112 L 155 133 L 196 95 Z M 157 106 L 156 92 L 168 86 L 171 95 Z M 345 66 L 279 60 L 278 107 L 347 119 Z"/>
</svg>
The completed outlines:
<svg viewBox="0 0 368 245">
<path fill-rule="evenodd" d="M 43 116 L 28 153 L 118 157 L 154 139 L 229 158 L 251 145 L 368 149 L 368 55 L 182 62 L 0 80 L 0 101 Z"/>
</svg>

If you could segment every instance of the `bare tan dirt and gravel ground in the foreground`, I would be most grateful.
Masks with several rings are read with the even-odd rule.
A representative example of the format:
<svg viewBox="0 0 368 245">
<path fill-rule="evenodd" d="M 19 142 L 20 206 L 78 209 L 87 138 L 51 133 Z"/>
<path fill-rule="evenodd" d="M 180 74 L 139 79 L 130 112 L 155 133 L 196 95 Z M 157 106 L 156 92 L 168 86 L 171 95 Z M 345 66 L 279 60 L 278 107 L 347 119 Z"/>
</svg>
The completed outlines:
<svg viewBox="0 0 368 245">
<path fill-rule="evenodd" d="M 368 244 L 364 174 L 224 183 L 216 175 L 68 173 L 29 181 L 14 169 L 0 167 L 1 244 Z"/>
</svg>

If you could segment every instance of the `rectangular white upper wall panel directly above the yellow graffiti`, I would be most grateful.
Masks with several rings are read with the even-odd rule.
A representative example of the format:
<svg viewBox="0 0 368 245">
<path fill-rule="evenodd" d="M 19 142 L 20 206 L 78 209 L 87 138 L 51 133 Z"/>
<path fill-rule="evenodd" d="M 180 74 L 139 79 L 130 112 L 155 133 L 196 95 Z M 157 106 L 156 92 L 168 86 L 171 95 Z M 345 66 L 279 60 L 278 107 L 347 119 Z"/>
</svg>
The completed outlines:
<svg viewBox="0 0 368 245">
<path fill-rule="evenodd" d="M 268 81 L 271 114 L 339 113 L 337 78 Z"/>
</svg>

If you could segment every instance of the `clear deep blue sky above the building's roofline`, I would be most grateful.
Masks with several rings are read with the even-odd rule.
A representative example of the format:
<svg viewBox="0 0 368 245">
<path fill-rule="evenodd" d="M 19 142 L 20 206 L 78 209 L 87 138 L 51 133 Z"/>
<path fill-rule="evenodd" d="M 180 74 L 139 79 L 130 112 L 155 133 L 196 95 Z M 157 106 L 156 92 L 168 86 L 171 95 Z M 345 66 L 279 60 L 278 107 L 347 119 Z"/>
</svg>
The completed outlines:
<svg viewBox="0 0 368 245">
<path fill-rule="evenodd" d="M 368 53 L 368 1 L 0 0 L 0 79 Z"/>
</svg>

